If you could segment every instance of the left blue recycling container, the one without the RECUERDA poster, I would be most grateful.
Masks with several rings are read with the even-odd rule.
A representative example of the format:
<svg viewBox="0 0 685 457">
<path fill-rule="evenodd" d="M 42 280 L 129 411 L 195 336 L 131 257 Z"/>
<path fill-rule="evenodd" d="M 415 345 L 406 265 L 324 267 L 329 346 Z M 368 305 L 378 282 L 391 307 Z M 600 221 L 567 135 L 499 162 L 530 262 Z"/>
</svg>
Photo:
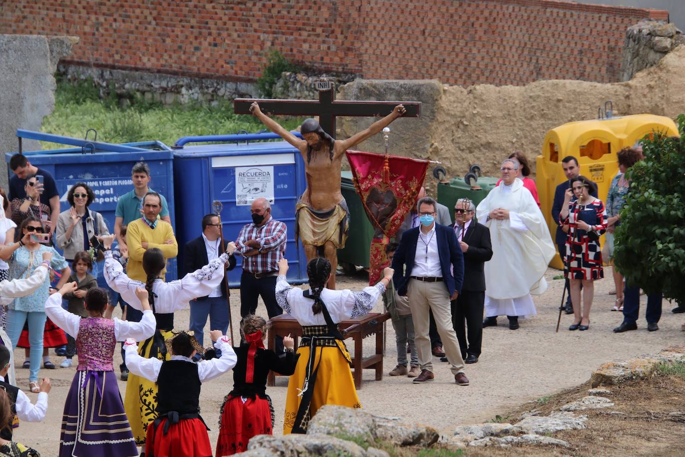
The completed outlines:
<svg viewBox="0 0 685 457">
<path fill-rule="evenodd" d="M 173 187 L 173 151 L 159 141 L 124 143 L 115 145 L 97 143 L 79 138 L 69 138 L 27 130 L 17 130 L 20 138 L 50 141 L 62 145 L 81 147 L 23 152 L 31 164 L 49 171 L 55 178 L 60 193 L 60 212 L 69 209 L 66 193 L 77 182 L 85 182 L 95 193 L 95 201 L 88 208 L 103 215 L 110 233 L 114 233 L 114 211 L 119 197 L 133 188 L 131 169 L 141 160 L 150 166 L 150 186 L 166 197 L 171 222 L 175 221 Z M 20 143 L 21 145 L 21 143 Z M 14 153 L 5 153 L 9 163 Z M 9 166 L 8 166 L 9 168 Z M 10 177 L 14 173 L 9 170 Z M 177 260 L 169 260 L 166 280 L 177 278 Z M 100 274 L 98 283 L 105 280 Z"/>
</svg>

